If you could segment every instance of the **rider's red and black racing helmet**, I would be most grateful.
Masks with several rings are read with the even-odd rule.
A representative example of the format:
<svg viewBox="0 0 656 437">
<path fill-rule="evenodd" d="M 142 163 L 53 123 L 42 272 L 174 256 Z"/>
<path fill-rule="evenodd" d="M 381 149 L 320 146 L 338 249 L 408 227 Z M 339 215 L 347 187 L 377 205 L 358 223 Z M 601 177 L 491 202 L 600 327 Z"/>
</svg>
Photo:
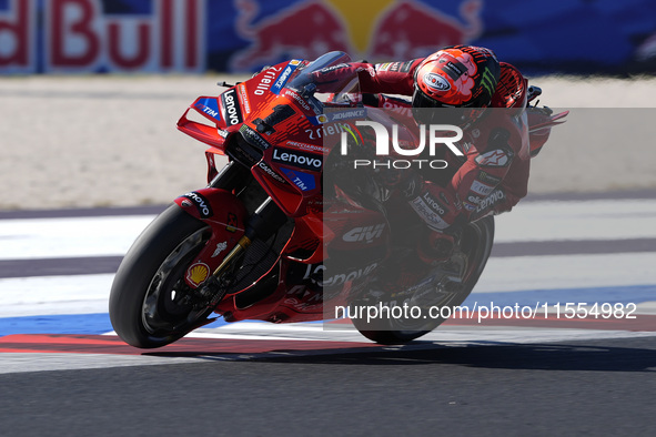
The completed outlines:
<svg viewBox="0 0 656 437">
<path fill-rule="evenodd" d="M 415 120 L 424 124 L 471 125 L 490 106 L 499 74 L 499 62 L 488 49 L 454 45 L 431 54 L 415 70 Z M 428 110 L 442 108 L 454 110 Z"/>
</svg>

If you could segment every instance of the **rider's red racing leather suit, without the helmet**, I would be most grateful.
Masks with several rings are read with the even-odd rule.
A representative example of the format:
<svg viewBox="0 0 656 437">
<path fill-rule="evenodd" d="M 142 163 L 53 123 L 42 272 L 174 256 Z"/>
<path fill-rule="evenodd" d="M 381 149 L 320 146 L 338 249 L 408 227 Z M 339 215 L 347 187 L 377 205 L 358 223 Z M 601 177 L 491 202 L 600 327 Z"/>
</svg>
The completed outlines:
<svg viewBox="0 0 656 437">
<path fill-rule="evenodd" d="M 377 94 L 365 104 L 412 115 L 410 102 L 382 93 L 412 95 L 414 72 L 422 61 L 344 64 L 326 71 L 320 82 L 330 83 L 333 74 L 344 74 L 345 70 L 357 72 L 362 92 Z M 526 114 L 522 111 L 526 81 L 514 67 L 501 65 L 492 108 L 517 108 L 487 111 L 468 126 L 456 143 L 464 156 L 450 156 L 450 166 L 460 165 L 451 181 L 441 186 L 424 177 L 423 185 L 408 197 L 414 211 L 435 231 L 509 211 L 526 195 L 531 160 Z"/>
</svg>

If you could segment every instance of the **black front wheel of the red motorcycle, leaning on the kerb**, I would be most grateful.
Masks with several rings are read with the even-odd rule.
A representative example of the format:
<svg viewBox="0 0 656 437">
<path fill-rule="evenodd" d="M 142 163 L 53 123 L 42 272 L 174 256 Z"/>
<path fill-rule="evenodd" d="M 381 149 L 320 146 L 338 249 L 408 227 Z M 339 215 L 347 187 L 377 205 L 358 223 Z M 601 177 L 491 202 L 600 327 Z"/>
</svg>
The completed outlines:
<svg viewBox="0 0 656 437">
<path fill-rule="evenodd" d="M 168 345 L 206 323 L 211 309 L 194 308 L 184 281 L 211 228 L 172 204 L 137 238 L 121 262 L 110 299 L 110 321 L 129 345 Z"/>
</svg>

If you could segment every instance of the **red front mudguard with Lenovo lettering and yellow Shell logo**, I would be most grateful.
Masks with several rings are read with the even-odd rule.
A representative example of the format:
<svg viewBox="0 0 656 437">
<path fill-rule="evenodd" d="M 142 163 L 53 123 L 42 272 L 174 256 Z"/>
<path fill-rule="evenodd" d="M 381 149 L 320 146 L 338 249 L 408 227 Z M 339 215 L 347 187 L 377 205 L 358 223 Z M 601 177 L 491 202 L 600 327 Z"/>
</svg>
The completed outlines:
<svg viewBox="0 0 656 437">
<path fill-rule="evenodd" d="M 221 189 L 191 191 L 173 202 L 189 215 L 210 226 L 212 232 L 184 275 L 186 284 L 196 288 L 219 267 L 244 235 L 249 218 L 246 209 L 234 194 Z"/>
</svg>

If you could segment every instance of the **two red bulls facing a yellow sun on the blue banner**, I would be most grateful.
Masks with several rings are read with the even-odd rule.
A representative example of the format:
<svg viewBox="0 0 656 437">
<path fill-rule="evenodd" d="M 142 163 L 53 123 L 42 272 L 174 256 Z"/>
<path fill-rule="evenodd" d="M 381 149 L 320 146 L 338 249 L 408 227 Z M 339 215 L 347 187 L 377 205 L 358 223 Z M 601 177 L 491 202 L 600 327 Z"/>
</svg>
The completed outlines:
<svg viewBox="0 0 656 437">
<path fill-rule="evenodd" d="M 250 44 L 232 57 L 233 71 L 314 59 L 332 50 L 372 62 L 421 58 L 483 33 L 483 0 L 462 1 L 456 16 L 420 0 L 299 1 L 268 17 L 259 17 L 255 0 L 236 0 L 235 6 L 236 32 Z"/>
</svg>

